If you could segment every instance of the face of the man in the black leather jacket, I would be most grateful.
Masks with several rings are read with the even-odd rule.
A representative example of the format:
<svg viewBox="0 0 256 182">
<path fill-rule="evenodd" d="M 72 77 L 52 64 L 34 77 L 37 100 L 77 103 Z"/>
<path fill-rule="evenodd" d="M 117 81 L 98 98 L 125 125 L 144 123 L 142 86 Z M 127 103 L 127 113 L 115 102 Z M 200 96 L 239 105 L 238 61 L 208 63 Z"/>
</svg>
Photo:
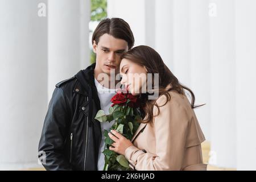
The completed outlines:
<svg viewBox="0 0 256 182">
<path fill-rule="evenodd" d="M 96 53 L 96 67 L 98 72 L 110 76 L 110 70 L 119 73 L 121 53 L 128 51 L 128 44 L 125 40 L 116 39 L 109 34 L 100 37 L 98 44 L 93 42 L 93 52 Z"/>
</svg>

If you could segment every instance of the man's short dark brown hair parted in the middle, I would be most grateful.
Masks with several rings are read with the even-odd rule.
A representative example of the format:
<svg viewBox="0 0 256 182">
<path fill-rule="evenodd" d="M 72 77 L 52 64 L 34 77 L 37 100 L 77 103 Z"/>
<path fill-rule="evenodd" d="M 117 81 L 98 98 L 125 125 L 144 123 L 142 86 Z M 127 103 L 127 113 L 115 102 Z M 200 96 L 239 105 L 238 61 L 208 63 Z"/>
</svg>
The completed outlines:
<svg viewBox="0 0 256 182">
<path fill-rule="evenodd" d="M 96 44 L 100 37 L 104 34 L 109 34 L 116 39 L 125 40 L 128 44 L 129 49 L 134 45 L 134 36 L 131 28 L 125 20 L 121 18 L 106 18 L 101 20 L 92 35 L 92 44 L 95 40 Z"/>
</svg>

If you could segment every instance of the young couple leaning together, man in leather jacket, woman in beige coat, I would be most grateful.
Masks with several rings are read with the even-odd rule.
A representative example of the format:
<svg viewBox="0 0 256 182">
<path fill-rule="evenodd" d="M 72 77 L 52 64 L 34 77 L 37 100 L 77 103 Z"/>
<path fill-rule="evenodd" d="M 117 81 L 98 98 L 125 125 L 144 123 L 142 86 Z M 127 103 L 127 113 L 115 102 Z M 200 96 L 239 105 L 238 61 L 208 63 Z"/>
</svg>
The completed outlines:
<svg viewBox="0 0 256 182">
<path fill-rule="evenodd" d="M 99 77 L 104 73 L 111 78 L 110 71 L 115 71 L 133 95 L 142 94 L 147 81 L 135 84 L 133 74 L 158 73 L 159 97 L 145 101 L 143 122 L 131 141 L 117 131 L 109 133 L 114 140 L 110 150 L 124 155 L 135 170 L 206 170 L 201 151 L 205 138 L 193 111 L 195 96 L 179 83 L 160 55 L 147 46 L 133 48 L 133 32 L 120 18 L 102 20 L 92 44 L 96 63 L 59 82 L 53 92 L 39 142 L 43 166 L 47 170 L 104 168 L 103 132 L 113 122 L 100 123 L 94 117 L 100 109 L 108 113 L 115 94 L 113 84 L 104 87 Z"/>
</svg>

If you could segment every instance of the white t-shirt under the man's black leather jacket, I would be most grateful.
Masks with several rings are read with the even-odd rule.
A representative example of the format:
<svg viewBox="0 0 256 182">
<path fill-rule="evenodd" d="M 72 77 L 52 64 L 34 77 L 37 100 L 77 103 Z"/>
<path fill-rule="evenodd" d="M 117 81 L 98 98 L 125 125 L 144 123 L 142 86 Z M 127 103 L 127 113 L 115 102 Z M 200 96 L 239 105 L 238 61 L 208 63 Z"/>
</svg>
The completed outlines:
<svg viewBox="0 0 256 182">
<path fill-rule="evenodd" d="M 115 95 L 116 91 L 115 89 L 109 89 L 104 86 L 102 86 L 96 78 L 94 78 L 94 82 L 98 91 L 98 98 L 101 102 L 101 109 L 104 110 L 105 114 L 109 114 L 109 107 L 112 105 L 112 102 L 110 102 L 111 98 Z M 105 165 L 105 157 L 102 152 L 105 149 L 105 136 L 104 136 L 104 130 L 109 130 L 110 127 L 113 125 L 114 121 L 112 122 L 101 122 L 101 144 L 100 144 L 100 150 L 98 152 L 98 170 L 102 171 Z"/>
</svg>

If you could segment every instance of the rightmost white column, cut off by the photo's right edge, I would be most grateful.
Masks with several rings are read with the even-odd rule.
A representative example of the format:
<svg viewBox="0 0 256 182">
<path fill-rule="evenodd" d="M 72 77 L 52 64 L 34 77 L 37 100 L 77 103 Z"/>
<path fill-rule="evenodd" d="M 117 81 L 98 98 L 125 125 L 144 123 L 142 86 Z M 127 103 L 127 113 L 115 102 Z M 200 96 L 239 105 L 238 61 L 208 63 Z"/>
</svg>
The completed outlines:
<svg viewBox="0 0 256 182">
<path fill-rule="evenodd" d="M 236 0 L 237 169 L 256 170 L 256 1 Z"/>
</svg>

